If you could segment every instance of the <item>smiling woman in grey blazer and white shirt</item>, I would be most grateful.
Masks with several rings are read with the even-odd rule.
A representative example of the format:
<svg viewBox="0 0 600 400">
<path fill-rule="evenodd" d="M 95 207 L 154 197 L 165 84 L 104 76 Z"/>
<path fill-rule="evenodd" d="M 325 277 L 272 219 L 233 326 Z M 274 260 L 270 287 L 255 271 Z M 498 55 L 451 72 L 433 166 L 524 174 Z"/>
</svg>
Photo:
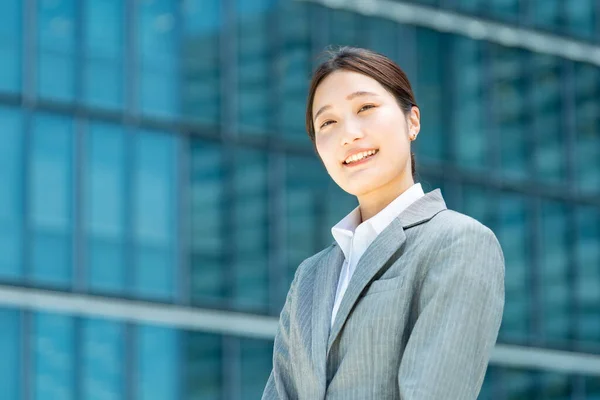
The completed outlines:
<svg viewBox="0 0 600 400">
<path fill-rule="evenodd" d="M 404 72 L 331 52 L 310 85 L 308 135 L 359 206 L 298 267 L 263 399 L 476 399 L 504 308 L 490 229 L 414 182 L 420 111 Z"/>
</svg>

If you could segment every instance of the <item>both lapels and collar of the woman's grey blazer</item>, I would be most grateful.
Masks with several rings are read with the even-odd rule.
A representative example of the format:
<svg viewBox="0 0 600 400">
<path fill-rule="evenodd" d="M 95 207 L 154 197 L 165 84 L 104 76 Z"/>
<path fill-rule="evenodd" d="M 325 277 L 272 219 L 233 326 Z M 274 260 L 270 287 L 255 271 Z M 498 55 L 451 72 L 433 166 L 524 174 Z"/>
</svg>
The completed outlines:
<svg viewBox="0 0 600 400">
<path fill-rule="evenodd" d="M 329 251 L 319 258 L 312 299 L 312 356 L 318 376 L 326 376 L 329 350 L 363 289 L 384 265 L 395 262 L 400 256 L 398 250 L 406 241 L 404 231 L 429 221 L 446 208 L 440 189 L 435 189 L 412 203 L 375 238 L 356 266 L 331 330 L 331 312 L 344 255 L 334 242 Z"/>
</svg>

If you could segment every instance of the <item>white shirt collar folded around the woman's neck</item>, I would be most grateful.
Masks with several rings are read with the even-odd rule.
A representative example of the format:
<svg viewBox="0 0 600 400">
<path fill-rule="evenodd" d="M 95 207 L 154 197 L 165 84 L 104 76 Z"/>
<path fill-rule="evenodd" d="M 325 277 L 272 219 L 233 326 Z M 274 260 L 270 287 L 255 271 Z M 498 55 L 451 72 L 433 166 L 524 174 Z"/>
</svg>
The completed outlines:
<svg viewBox="0 0 600 400">
<path fill-rule="evenodd" d="M 415 183 L 400 194 L 400 196 L 396 197 L 383 210 L 363 223 L 370 225 L 375 232 L 375 235 L 379 235 L 394 220 L 394 218 L 424 195 L 425 193 L 423 192 L 421 184 Z M 333 238 L 346 257 L 348 257 L 348 252 L 352 244 L 352 237 L 354 236 L 356 228 L 360 225 L 360 220 L 360 206 L 358 206 L 331 228 Z"/>
</svg>

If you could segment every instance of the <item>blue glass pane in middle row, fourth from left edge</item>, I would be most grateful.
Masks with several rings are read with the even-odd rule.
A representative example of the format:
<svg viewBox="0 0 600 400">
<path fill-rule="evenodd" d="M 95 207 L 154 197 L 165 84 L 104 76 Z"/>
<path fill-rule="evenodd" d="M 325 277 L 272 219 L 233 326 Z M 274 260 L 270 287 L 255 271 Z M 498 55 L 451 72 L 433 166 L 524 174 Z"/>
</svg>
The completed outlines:
<svg viewBox="0 0 600 400">
<path fill-rule="evenodd" d="M 135 292 L 167 299 L 177 272 L 177 141 L 169 134 L 140 132 L 133 171 Z"/>
</svg>

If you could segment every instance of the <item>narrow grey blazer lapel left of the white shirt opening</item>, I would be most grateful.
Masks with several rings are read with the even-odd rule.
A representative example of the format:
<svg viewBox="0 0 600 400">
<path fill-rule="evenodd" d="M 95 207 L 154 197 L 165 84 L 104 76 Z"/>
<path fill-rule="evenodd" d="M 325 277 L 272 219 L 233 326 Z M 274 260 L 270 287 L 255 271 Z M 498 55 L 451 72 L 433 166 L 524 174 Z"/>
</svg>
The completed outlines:
<svg viewBox="0 0 600 400">
<path fill-rule="evenodd" d="M 337 282 L 344 263 L 344 253 L 334 243 L 327 255 L 316 266 L 315 287 L 312 298 L 312 359 L 316 376 L 322 377 L 326 386 L 327 338 L 331 326 L 331 312 L 335 301 Z"/>
</svg>

